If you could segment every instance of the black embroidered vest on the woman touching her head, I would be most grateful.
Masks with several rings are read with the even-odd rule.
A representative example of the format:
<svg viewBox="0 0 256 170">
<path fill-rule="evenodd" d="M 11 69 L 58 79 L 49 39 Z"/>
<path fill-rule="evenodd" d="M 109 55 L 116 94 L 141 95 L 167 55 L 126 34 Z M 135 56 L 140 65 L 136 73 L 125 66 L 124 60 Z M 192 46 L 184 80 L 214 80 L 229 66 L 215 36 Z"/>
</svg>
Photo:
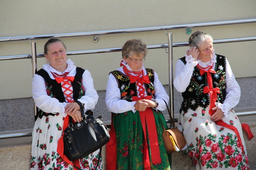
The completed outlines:
<svg viewBox="0 0 256 170">
<path fill-rule="evenodd" d="M 185 57 L 180 60 L 186 64 Z M 226 98 L 226 59 L 225 56 L 216 54 L 215 72 L 211 73 L 213 88 L 218 87 L 220 94 L 217 94 L 216 102 L 223 103 Z M 198 106 L 206 108 L 210 104 L 209 95 L 203 93 L 203 87 L 207 86 L 207 73 L 200 75 L 200 70 L 195 66 L 190 83 L 186 91 L 182 93 L 183 102 L 181 104 L 180 113 L 185 113 L 190 108 L 193 111 Z"/>
</svg>

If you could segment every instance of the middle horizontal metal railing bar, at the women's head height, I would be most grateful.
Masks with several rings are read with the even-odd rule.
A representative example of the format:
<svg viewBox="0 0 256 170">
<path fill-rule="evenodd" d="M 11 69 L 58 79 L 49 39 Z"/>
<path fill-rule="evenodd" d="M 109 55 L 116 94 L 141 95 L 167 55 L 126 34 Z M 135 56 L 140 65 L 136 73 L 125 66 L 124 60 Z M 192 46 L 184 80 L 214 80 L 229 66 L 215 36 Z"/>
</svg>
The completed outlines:
<svg viewBox="0 0 256 170">
<path fill-rule="evenodd" d="M 255 37 L 242 37 L 242 38 L 229 38 L 229 39 L 216 39 L 213 40 L 213 44 L 220 44 L 220 43 L 236 43 L 236 42 L 243 42 L 243 41 L 255 41 Z M 173 43 L 173 47 L 185 47 L 189 46 L 188 42 L 184 43 Z M 148 49 L 158 49 L 158 48 L 168 48 L 168 44 L 157 44 L 157 45 L 148 45 Z M 96 50 L 81 50 L 81 51 L 69 51 L 67 55 L 80 55 L 80 54 L 95 54 L 95 53 L 108 53 L 108 52 L 118 52 L 121 51 L 122 48 L 107 48 L 107 49 L 96 49 Z M 44 57 L 43 53 L 37 54 L 37 57 Z M 26 55 L 10 55 L 10 56 L 1 56 L 1 60 L 14 60 L 14 59 L 24 59 L 24 58 L 31 58 L 31 54 Z"/>
</svg>

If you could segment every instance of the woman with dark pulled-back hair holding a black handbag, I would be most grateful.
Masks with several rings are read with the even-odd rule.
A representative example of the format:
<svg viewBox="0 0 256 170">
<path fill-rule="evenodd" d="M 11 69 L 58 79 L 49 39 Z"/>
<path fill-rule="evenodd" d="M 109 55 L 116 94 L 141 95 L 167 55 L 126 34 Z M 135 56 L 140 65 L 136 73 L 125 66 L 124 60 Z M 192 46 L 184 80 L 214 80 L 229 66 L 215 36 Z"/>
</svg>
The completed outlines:
<svg viewBox="0 0 256 170">
<path fill-rule="evenodd" d="M 73 165 L 96 168 L 98 159 L 102 159 L 99 150 L 73 162 L 63 155 L 62 135 L 69 116 L 75 122 L 82 120 L 80 106 L 73 101 L 81 102 L 87 113 L 97 104 L 98 94 L 91 74 L 67 60 L 66 46 L 59 39 L 47 41 L 44 55 L 48 63 L 34 74 L 32 82 L 32 97 L 39 112 L 32 133 L 30 168 L 73 170 Z"/>
</svg>

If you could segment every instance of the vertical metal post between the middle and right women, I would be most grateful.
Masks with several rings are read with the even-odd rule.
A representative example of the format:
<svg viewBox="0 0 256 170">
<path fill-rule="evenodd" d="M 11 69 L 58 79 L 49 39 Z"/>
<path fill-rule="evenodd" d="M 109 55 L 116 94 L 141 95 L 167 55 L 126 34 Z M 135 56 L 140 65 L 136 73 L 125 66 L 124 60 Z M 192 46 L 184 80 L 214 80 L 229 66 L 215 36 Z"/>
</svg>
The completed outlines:
<svg viewBox="0 0 256 170">
<path fill-rule="evenodd" d="M 172 118 L 174 119 L 172 33 L 168 33 L 168 56 L 169 56 L 168 59 L 169 59 L 169 96 L 170 96 L 169 105 L 170 105 Z"/>
</svg>

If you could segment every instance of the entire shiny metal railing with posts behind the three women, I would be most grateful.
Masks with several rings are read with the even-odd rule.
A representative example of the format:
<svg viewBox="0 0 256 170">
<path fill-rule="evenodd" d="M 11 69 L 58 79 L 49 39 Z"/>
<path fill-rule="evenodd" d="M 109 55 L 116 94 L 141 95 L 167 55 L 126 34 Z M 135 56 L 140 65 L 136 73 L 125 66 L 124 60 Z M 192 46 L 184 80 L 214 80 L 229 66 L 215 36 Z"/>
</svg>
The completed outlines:
<svg viewBox="0 0 256 170">
<path fill-rule="evenodd" d="M 256 19 L 244 19 L 244 20 L 234 20 L 234 21 L 220 21 L 220 22 L 208 22 L 208 23 L 197 23 L 197 24 L 184 24 L 184 25 L 176 25 L 176 26 L 165 26 L 165 27 L 150 27 L 150 28 L 138 28 L 138 29 L 126 29 L 126 30 L 112 30 L 112 31 L 96 31 L 96 32 L 87 32 L 87 33 L 68 33 L 68 34 L 52 34 L 52 35 L 38 35 L 38 36 L 20 36 L 20 37 L 7 37 L 0 38 L 0 42 L 2 41 L 17 41 L 17 40 L 27 40 L 29 39 L 41 39 L 41 38 L 60 38 L 60 37 L 74 37 L 74 36 L 89 36 L 89 35 L 104 35 L 104 34 L 117 34 L 117 33 L 130 33 L 130 32 L 145 32 L 145 31 L 159 31 L 159 30 L 170 30 L 170 29 L 182 29 L 182 28 L 196 28 L 196 27 L 210 27 L 210 26 L 221 26 L 221 25 L 229 25 L 229 24 L 241 24 L 241 23 L 253 23 L 256 22 Z M 229 39 L 217 39 L 213 40 L 213 44 L 220 43 L 234 43 L 234 42 L 242 42 L 242 41 L 253 41 L 256 40 L 256 36 L 253 37 L 241 37 L 241 38 L 229 38 Z M 172 43 L 172 33 L 168 33 L 168 44 L 158 44 L 158 45 L 148 45 L 148 49 L 159 49 L 159 48 L 168 48 L 169 54 L 169 82 L 170 82 L 170 101 L 173 102 L 173 86 L 172 86 L 172 48 L 173 47 L 184 47 L 189 46 L 186 43 Z M 171 48 L 169 48 L 171 47 Z M 31 43 L 32 54 L 27 55 L 10 55 L 10 56 L 2 56 L 0 60 L 13 60 L 13 59 L 24 59 L 30 58 L 32 59 L 32 69 L 33 73 L 36 71 L 36 58 L 44 57 L 43 53 L 37 54 L 35 50 L 35 43 Z M 109 49 L 97 49 L 97 50 L 81 50 L 81 51 L 70 51 L 67 52 L 67 55 L 80 55 L 80 54 L 94 54 L 94 53 L 106 53 L 106 52 L 117 52 L 121 51 L 122 48 L 109 48 Z M 173 103 L 171 105 L 171 112 L 173 116 Z M 256 111 L 253 112 L 241 112 L 237 113 L 238 116 L 247 116 L 247 115 L 255 115 Z M 168 122 L 169 120 L 167 120 Z M 110 125 L 105 122 L 106 125 Z M 0 139 L 6 138 L 15 138 L 15 137 L 26 137 L 32 136 L 32 132 L 23 132 L 23 133 L 9 133 L 0 135 Z"/>
</svg>

